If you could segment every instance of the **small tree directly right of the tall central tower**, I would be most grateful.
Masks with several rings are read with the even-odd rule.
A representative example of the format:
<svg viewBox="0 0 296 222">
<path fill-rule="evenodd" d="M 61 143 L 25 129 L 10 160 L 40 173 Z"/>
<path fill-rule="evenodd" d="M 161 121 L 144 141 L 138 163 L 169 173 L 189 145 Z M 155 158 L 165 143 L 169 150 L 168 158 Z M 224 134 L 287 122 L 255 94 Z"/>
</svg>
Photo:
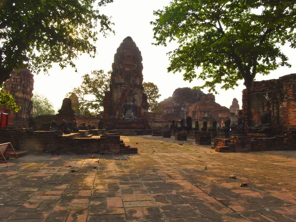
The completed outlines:
<svg viewBox="0 0 296 222">
<path fill-rule="evenodd" d="M 147 101 L 149 104 L 149 111 L 155 112 L 158 108 L 158 99 L 161 95 L 159 94 L 159 90 L 157 85 L 152 82 L 143 82 L 144 93 L 147 96 Z"/>
</svg>

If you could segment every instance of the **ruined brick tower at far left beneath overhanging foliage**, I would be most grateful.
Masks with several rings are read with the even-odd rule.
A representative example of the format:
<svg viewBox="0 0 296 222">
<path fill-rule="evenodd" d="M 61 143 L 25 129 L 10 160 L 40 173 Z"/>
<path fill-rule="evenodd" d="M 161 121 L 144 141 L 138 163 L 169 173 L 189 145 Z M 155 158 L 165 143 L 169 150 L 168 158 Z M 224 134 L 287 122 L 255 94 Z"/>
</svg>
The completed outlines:
<svg viewBox="0 0 296 222">
<path fill-rule="evenodd" d="M 33 114 L 33 86 L 34 79 L 28 69 L 21 69 L 10 74 L 10 78 L 4 82 L 4 89 L 15 98 L 15 102 L 21 107 L 17 113 L 7 107 L 0 106 L 0 112 L 9 114 L 9 126 L 26 128 L 28 127 L 28 117 Z"/>
</svg>

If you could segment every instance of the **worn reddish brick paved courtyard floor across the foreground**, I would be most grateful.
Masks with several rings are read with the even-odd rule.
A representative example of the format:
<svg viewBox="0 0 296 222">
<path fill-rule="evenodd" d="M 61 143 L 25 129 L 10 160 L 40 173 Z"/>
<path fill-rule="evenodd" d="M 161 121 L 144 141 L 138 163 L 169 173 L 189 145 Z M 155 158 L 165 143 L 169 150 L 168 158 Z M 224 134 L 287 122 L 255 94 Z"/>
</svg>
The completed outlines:
<svg viewBox="0 0 296 222">
<path fill-rule="evenodd" d="M 0 221 L 296 221 L 296 151 L 218 153 L 193 140 L 123 138 L 139 153 L 1 163 Z"/>
</svg>

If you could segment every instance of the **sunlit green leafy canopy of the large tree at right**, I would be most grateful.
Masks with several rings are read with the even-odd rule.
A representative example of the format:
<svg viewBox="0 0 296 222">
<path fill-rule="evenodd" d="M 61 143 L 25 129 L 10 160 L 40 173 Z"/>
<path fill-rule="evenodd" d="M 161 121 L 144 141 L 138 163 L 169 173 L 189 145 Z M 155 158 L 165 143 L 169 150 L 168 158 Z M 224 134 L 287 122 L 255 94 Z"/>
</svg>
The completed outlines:
<svg viewBox="0 0 296 222">
<path fill-rule="evenodd" d="M 295 0 L 172 0 L 153 13 L 154 44 L 179 43 L 168 72 L 206 80 L 197 88 L 217 92 L 216 84 L 234 88 L 240 79 L 250 88 L 256 74 L 290 67 L 280 45 L 296 46 Z"/>
</svg>

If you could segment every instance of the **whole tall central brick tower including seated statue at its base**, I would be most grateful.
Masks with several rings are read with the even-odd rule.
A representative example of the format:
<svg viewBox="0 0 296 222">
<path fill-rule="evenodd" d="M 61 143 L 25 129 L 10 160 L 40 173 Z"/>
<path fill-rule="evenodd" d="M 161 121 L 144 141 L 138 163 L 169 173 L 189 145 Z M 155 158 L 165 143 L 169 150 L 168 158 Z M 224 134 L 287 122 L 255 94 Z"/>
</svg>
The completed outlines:
<svg viewBox="0 0 296 222">
<path fill-rule="evenodd" d="M 123 39 L 114 55 L 110 91 L 104 100 L 104 124 L 115 129 L 145 130 L 148 102 L 143 93 L 142 55 L 131 37 Z"/>
</svg>

